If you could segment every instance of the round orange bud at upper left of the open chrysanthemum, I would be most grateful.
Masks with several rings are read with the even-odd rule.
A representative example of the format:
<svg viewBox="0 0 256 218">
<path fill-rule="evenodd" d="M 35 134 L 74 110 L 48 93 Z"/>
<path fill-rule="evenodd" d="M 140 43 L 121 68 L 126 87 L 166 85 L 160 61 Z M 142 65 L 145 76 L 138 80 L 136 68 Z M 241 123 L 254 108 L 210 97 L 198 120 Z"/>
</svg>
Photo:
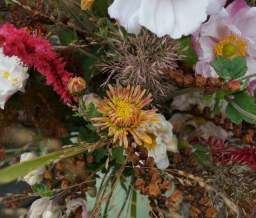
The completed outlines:
<svg viewBox="0 0 256 218">
<path fill-rule="evenodd" d="M 86 81 L 81 77 L 73 77 L 67 83 L 67 89 L 73 97 L 83 96 L 86 93 Z"/>
</svg>

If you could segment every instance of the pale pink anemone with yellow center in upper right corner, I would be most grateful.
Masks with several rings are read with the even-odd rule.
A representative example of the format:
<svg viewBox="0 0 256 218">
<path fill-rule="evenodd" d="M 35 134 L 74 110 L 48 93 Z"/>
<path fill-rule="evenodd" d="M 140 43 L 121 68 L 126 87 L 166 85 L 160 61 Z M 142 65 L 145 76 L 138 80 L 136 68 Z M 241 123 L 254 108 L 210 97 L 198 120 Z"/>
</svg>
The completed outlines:
<svg viewBox="0 0 256 218">
<path fill-rule="evenodd" d="M 210 66 L 216 55 L 232 59 L 244 55 L 248 70 L 246 75 L 255 73 L 256 66 L 256 7 L 250 8 L 244 1 L 236 0 L 192 35 L 192 45 L 198 54 L 196 73 L 205 77 L 218 77 Z M 229 44 L 229 45 L 228 45 Z M 253 95 L 255 78 L 250 79 L 248 93 Z"/>
</svg>

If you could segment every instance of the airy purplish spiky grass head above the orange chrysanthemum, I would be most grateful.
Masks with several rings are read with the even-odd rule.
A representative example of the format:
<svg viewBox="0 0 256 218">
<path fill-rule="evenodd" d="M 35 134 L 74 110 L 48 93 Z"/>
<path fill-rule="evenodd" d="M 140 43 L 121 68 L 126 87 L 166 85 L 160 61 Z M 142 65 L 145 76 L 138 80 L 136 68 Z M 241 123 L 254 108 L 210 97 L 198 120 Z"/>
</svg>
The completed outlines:
<svg viewBox="0 0 256 218">
<path fill-rule="evenodd" d="M 178 51 L 178 41 L 169 36 L 159 38 L 147 30 L 137 36 L 126 36 L 121 30 L 112 34 L 114 39 L 108 41 L 111 52 L 106 52 L 99 64 L 103 73 L 109 73 L 104 86 L 113 78 L 122 86 L 140 85 L 155 99 L 177 90 L 168 75 L 178 67 L 176 61 L 185 57 Z"/>
</svg>

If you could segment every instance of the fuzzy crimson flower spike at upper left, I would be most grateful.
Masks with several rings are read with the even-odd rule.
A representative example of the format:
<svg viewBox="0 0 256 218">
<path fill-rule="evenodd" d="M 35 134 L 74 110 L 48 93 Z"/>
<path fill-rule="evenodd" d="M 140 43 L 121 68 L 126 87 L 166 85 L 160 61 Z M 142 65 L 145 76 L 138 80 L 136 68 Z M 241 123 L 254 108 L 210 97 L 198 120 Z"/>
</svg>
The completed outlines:
<svg viewBox="0 0 256 218">
<path fill-rule="evenodd" d="M 73 73 L 64 69 L 66 63 L 61 63 L 63 58 L 58 58 L 58 53 L 52 49 L 49 41 L 41 36 L 30 35 L 24 28 L 17 30 L 13 25 L 5 23 L 0 28 L 0 47 L 3 47 L 5 55 L 16 55 L 23 64 L 45 75 L 46 84 L 54 84 L 54 90 L 61 95 L 61 99 L 71 102 L 67 82 Z"/>
</svg>

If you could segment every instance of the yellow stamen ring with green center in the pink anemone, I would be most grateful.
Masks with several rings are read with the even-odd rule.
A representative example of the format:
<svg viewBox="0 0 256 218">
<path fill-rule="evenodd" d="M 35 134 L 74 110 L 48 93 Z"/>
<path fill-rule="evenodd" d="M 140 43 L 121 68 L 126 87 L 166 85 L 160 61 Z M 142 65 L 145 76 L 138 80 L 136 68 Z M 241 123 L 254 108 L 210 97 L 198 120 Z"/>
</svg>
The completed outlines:
<svg viewBox="0 0 256 218">
<path fill-rule="evenodd" d="M 227 38 L 220 37 L 219 44 L 214 46 L 214 52 L 216 53 L 216 55 L 221 55 L 232 60 L 234 57 L 246 55 L 245 46 L 246 43 L 243 42 L 243 38 L 237 37 L 233 33 L 232 36 L 229 36 Z"/>
</svg>

